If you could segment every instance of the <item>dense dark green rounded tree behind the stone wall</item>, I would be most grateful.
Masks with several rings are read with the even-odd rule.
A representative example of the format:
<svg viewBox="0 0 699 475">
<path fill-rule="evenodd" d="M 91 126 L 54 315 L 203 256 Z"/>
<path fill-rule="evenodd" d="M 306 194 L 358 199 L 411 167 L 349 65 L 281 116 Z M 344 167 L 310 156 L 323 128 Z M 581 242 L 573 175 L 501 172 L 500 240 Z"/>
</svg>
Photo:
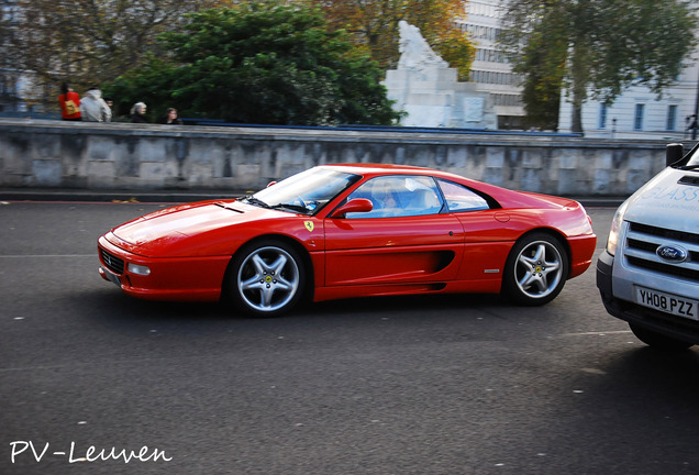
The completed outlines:
<svg viewBox="0 0 699 475">
<path fill-rule="evenodd" d="M 344 32 L 330 32 L 319 9 L 270 0 L 187 20 L 162 36 L 171 60 L 153 59 L 107 90 L 229 122 L 390 124 L 400 117 L 376 63 Z"/>
</svg>

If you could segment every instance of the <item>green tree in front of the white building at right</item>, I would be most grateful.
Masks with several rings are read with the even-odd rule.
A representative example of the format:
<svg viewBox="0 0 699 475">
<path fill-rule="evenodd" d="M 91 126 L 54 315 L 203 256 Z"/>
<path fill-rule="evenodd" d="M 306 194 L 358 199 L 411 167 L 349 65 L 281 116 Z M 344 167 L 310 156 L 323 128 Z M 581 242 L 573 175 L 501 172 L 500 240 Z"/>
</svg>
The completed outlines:
<svg viewBox="0 0 699 475">
<path fill-rule="evenodd" d="M 644 85 L 661 96 L 696 45 L 694 11 L 683 0 L 512 0 L 504 19 L 501 43 L 525 77 L 528 113 L 543 93 L 566 87 L 575 132 L 588 92 L 612 103 Z M 557 106 L 547 103 L 550 115 Z"/>
</svg>

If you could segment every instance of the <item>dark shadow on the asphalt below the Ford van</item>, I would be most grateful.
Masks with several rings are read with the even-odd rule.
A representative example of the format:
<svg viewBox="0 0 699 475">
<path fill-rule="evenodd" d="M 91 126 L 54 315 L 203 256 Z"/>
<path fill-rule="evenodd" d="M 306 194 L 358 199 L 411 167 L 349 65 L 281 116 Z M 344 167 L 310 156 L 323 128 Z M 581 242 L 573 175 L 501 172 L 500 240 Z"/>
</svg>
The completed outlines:
<svg viewBox="0 0 699 475">
<path fill-rule="evenodd" d="M 597 361 L 589 365 L 596 371 L 580 372 L 572 377 L 570 387 L 579 389 L 579 394 L 570 394 L 556 402 L 562 406 L 558 413 L 568 419 L 562 424 L 567 423 L 567 437 L 603 440 L 600 459 L 617 457 L 622 465 L 626 455 L 630 460 L 625 463 L 635 463 L 632 462 L 634 459 L 653 463 L 673 459 L 684 468 L 689 467 L 683 462 L 692 460 L 697 463 L 694 441 L 695 428 L 699 424 L 696 410 L 699 351 L 667 353 L 650 346 L 623 351 L 610 347 L 604 357 L 600 358 L 598 354 Z M 555 432 L 552 437 L 556 437 Z M 614 452 L 613 448 L 623 448 L 631 440 L 644 450 L 635 455 L 624 454 L 623 450 Z M 672 450 L 666 445 L 668 443 L 672 443 Z M 604 451 L 613 456 L 604 456 Z M 607 466 L 606 473 L 622 472 Z M 656 472 L 648 467 L 645 473 L 667 473 L 667 467 Z M 691 473 L 697 473 L 696 465 Z"/>
</svg>

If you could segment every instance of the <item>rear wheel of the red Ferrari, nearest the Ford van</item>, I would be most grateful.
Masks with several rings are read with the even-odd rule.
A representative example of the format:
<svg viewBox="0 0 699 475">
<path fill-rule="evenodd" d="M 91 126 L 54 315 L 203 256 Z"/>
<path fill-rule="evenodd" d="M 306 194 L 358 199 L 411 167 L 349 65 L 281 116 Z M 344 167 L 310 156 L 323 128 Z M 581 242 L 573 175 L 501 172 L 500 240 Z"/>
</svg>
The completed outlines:
<svg viewBox="0 0 699 475">
<path fill-rule="evenodd" d="M 508 256 L 502 290 L 523 306 L 542 306 L 561 294 L 569 273 L 568 254 L 561 240 L 547 233 L 521 238 Z"/>
</svg>

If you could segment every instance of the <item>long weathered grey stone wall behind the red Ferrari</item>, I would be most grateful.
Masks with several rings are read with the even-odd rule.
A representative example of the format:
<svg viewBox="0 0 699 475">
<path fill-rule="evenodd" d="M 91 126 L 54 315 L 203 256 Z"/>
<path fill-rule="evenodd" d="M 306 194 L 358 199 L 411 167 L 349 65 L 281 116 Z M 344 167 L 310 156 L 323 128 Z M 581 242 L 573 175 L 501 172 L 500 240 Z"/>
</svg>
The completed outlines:
<svg viewBox="0 0 699 475">
<path fill-rule="evenodd" d="M 665 166 L 665 145 L 562 136 L 0 119 L 0 186 L 256 190 L 318 164 L 360 162 L 433 167 L 518 190 L 620 196 L 632 194 Z"/>
</svg>

